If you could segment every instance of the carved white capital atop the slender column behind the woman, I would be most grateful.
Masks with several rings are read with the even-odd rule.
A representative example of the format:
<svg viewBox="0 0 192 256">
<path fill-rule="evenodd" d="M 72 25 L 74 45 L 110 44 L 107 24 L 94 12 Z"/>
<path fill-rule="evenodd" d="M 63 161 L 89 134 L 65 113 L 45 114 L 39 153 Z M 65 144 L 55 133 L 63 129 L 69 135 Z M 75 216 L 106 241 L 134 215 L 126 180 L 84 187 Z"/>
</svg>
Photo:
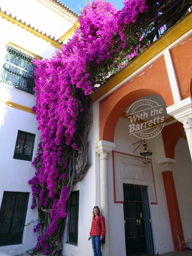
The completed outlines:
<svg viewBox="0 0 192 256">
<path fill-rule="evenodd" d="M 102 140 L 94 143 L 94 149 L 97 154 L 100 155 L 100 160 L 107 159 L 107 154 L 110 154 L 114 147 L 115 143 L 110 141 Z"/>
</svg>

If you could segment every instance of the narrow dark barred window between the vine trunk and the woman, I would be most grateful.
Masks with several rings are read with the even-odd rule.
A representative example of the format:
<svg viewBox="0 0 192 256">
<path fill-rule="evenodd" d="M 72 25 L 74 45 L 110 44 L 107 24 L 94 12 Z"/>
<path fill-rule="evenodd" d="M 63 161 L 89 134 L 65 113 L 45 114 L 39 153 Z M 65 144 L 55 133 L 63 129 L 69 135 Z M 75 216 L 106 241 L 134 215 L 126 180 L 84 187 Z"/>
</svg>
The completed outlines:
<svg viewBox="0 0 192 256">
<path fill-rule="evenodd" d="M 78 244 L 78 219 L 79 219 L 79 191 L 73 191 L 70 195 L 68 243 Z"/>
</svg>

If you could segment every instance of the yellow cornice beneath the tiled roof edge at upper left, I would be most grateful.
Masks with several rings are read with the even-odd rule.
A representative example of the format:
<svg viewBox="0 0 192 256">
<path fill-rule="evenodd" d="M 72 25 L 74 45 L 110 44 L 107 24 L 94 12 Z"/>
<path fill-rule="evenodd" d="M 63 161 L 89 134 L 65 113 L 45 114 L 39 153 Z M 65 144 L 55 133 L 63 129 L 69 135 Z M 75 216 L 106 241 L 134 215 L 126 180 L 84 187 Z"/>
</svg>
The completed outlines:
<svg viewBox="0 0 192 256">
<path fill-rule="evenodd" d="M 0 10 L 0 16 L 2 17 L 2 19 L 7 20 L 7 22 L 16 24 L 18 27 L 21 27 L 22 29 L 25 29 L 27 32 L 30 32 L 32 35 L 41 38 L 43 41 L 46 41 L 46 43 L 49 43 L 55 48 L 58 48 L 58 49 L 61 48 L 61 44 L 59 44 L 57 41 L 54 41 L 54 39 L 51 39 L 50 37 L 46 37 L 46 35 L 43 35 L 42 33 L 35 31 L 33 28 L 30 28 L 29 26 L 23 24 L 20 20 L 11 18 L 9 15 L 7 15 L 6 13 L 3 13 L 1 10 Z"/>
</svg>

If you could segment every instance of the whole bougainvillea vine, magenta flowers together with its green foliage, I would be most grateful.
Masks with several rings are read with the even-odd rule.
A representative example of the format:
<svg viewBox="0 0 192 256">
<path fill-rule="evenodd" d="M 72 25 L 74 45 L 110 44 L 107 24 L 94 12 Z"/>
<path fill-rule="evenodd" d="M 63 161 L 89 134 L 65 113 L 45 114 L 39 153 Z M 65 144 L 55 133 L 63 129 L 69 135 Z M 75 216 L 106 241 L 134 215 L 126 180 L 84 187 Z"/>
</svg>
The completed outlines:
<svg viewBox="0 0 192 256">
<path fill-rule="evenodd" d="M 151 13 L 155 17 L 159 15 L 159 6 L 163 4 L 165 7 L 165 3 L 165 0 L 124 0 L 123 9 L 117 11 L 110 2 L 93 0 L 81 10 L 79 28 L 61 46 L 61 50 L 55 50 L 50 59 L 34 61 L 37 104 L 33 111 L 37 115 L 38 130 L 41 130 L 41 142 L 32 163 L 36 168 L 35 176 L 28 183 L 32 185 L 33 192 L 31 209 L 39 205 L 38 208 L 45 213 L 44 221 L 34 229 L 39 232 L 40 226 L 43 227 L 35 250 L 44 248 L 45 255 L 56 252 L 55 249 L 50 251 L 48 239 L 58 229 L 58 221 L 66 217 L 66 200 L 78 173 L 77 163 L 72 162 L 70 156 L 79 158 L 82 153 L 79 145 L 85 150 L 82 134 L 79 133 L 84 129 L 81 127 L 81 112 L 86 111 L 85 106 L 87 108 L 83 97 L 92 92 L 103 74 L 111 74 L 110 69 L 120 62 L 121 53 L 129 59 L 138 54 L 144 36 L 140 24 L 135 29 L 138 16 L 148 13 L 147 20 L 150 20 Z M 142 22 L 147 24 L 146 19 Z M 157 24 L 162 26 L 159 21 Z M 152 28 L 151 25 L 149 28 Z M 132 38 L 130 35 L 133 35 Z M 124 66 L 121 62 L 119 65 Z M 79 141 L 82 143 L 79 144 Z M 75 170 L 72 176 L 71 166 Z"/>
</svg>

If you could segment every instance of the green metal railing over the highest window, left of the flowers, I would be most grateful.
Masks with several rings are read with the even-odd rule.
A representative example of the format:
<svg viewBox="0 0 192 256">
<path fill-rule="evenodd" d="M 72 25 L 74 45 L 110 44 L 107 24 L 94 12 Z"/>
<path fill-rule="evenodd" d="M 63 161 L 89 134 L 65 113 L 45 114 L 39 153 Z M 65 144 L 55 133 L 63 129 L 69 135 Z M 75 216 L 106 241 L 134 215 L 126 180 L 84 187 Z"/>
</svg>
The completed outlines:
<svg viewBox="0 0 192 256">
<path fill-rule="evenodd" d="M 33 59 L 35 58 L 9 46 L 1 82 L 34 94 L 33 72 L 35 65 L 32 63 Z"/>
</svg>

